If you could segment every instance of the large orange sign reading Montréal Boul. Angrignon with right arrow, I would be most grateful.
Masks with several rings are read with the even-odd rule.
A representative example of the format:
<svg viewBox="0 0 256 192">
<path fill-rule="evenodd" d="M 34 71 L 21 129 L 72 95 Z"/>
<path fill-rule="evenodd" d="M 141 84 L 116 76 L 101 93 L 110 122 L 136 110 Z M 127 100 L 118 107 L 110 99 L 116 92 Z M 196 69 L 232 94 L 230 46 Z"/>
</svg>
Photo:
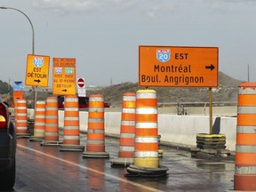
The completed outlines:
<svg viewBox="0 0 256 192">
<path fill-rule="evenodd" d="M 218 47 L 139 47 L 140 86 L 217 87 Z"/>
</svg>

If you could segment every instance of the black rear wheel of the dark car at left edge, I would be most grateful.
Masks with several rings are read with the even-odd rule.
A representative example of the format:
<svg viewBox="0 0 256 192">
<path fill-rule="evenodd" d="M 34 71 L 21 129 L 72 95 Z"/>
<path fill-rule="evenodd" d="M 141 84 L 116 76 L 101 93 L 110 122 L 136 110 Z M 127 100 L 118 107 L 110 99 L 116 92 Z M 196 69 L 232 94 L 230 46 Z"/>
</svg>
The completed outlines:
<svg viewBox="0 0 256 192">
<path fill-rule="evenodd" d="M 0 188 L 10 190 L 13 188 L 16 177 L 16 162 L 13 159 L 13 164 L 10 168 L 6 168 L 0 172 Z"/>
</svg>

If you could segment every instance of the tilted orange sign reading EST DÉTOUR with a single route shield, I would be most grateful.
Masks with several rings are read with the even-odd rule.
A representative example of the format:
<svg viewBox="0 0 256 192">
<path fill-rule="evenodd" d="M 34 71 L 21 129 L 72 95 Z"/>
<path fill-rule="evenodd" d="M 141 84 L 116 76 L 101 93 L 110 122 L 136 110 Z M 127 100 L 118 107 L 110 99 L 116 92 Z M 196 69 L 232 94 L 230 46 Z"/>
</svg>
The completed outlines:
<svg viewBox="0 0 256 192">
<path fill-rule="evenodd" d="M 26 85 L 48 86 L 50 57 L 28 54 Z"/>
</svg>

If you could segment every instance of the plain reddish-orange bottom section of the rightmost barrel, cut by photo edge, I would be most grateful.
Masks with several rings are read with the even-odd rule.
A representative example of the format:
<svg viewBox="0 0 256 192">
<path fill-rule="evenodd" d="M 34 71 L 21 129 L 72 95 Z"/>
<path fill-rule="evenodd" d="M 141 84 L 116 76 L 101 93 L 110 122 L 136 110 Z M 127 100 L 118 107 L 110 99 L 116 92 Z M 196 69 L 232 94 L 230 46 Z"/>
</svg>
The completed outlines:
<svg viewBox="0 0 256 192">
<path fill-rule="evenodd" d="M 252 175 L 234 175 L 234 189 L 235 190 L 246 190 L 255 191 L 256 190 L 256 174 Z"/>
</svg>

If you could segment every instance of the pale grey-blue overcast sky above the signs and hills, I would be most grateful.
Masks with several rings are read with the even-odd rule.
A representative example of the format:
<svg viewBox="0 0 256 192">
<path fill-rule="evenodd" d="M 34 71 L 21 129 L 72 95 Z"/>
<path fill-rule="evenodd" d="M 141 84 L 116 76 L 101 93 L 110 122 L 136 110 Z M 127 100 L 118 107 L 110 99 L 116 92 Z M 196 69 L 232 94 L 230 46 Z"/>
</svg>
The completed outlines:
<svg viewBox="0 0 256 192">
<path fill-rule="evenodd" d="M 139 45 L 219 47 L 219 70 L 256 81 L 255 0 L 1 0 L 28 15 L 35 54 L 75 58 L 86 86 L 139 81 Z M 25 82 L 32 29 L 0 9 L 0 79 Z M 52 78 L 49 78 L 52 86 Z"/>
</svg>

